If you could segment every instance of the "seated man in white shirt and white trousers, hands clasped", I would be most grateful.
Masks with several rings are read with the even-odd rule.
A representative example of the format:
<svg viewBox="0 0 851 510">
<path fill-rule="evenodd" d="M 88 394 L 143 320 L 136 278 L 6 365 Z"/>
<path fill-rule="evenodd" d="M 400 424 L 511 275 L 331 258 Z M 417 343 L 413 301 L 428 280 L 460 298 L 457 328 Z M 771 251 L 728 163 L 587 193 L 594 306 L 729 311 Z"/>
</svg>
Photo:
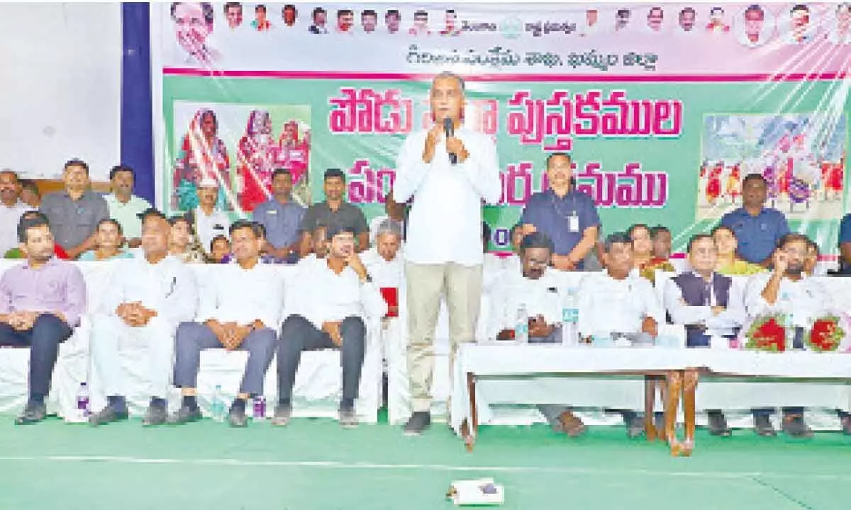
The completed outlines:
<svg viewBox="0 0 851 510">
<path fill-rule="evenodd" d="M 129 374 L 126 351 L 144 350 L 140 360 L 151 396 L 142 424 L 161 425 L 168 416 L 168 386 L 174 359 L 174 331 L 191 320 L 197 307 L 197 284 L 191 269 L 168 255 L 170 227 L 162 212 L 140 213 L 142 246 L 139 258 L 116 262 L 110 286 L 92 320 L 91 371 L 98 377 L 107 405 L 89 423 L 126 420 Z M 124 352 L 123 352 L 124 351 Z"/>
</svg>

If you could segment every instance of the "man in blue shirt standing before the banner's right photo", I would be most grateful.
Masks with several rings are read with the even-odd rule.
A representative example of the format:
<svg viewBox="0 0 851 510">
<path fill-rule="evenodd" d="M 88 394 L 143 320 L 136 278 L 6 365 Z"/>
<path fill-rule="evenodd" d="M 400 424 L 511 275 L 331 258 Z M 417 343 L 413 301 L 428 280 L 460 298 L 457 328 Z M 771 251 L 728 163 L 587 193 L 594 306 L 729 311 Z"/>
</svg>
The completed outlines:
<svg viewBox="0 0 851 510">
<path fill-rule="evenodd" d="M 751 173 L 742 182 L 742 207 L 724 214 L 721 224 L 733 229 L 739 241 L 740 258 L 768 267 L 777 241 L 789 233 L 783 212 L 765 207 L 765 178 Z"/>
</svg>

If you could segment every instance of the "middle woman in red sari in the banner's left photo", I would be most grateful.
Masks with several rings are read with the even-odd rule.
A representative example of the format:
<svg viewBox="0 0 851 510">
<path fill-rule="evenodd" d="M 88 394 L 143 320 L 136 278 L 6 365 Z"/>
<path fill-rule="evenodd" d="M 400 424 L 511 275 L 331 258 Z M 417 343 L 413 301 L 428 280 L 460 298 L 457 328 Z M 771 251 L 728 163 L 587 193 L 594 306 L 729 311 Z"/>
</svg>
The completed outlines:
<svg viewBox="0 0 851 510">
<path fill-rule="evenodd" d="M 239 207 L 254 211 L 271 195 L 271 173 L 275 171 L 277 147 L 271 134 L 271 116 L 266 110 L 253 110 L 237 145 L 239 165 Z"/>
</svg>

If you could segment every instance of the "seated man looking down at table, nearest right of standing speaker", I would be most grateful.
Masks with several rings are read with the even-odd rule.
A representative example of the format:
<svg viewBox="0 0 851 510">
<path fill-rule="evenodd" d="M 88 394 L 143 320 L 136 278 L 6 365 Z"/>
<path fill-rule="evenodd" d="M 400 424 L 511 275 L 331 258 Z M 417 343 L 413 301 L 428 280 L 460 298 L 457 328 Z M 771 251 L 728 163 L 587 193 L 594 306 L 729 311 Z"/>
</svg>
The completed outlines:
<svg viewBox="0 0 851 510">
<path fill-rule="evenodd" d="M 514 337 L 517 309 L 523 306 L 528 314 L 529 343 L 562 343 L 562 302 L 558 295 L 557 281 L 547 271 L 554 250 L 548 235 L 540 232 L 523 237 L 520 243 L 522 268 L 517 273 L 505 275 L 497 287 L 495 306 L 499 333 L 504 340 Z M 571 437 L 585 432 L 585 425 L 569 407 L 563 405 L 539 405 L 538 410 L 550 422 L 556 432 Z"/>
</svg>

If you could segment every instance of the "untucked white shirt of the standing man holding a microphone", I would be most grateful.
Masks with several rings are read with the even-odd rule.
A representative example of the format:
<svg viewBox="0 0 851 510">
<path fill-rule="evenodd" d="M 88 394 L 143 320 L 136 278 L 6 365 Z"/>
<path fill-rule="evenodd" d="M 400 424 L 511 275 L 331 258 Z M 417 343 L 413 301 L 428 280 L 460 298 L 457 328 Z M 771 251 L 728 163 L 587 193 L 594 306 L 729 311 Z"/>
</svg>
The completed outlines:
<svg viewBox="0 0 851 510">
<path fill-rule="evenodd" d="M 445 140 L 431 163 L 422 161 L 426 131 L 408 136 L 397 160 L 393 198 L 413 196 L 405 259 L 412 263 L 482 263 L 482 200 L 500 200 L 502 184 L 494 143 L 483 133 L 461 127 L 455 136 L 470 156 L 452 165 Z"/>
</svg>

